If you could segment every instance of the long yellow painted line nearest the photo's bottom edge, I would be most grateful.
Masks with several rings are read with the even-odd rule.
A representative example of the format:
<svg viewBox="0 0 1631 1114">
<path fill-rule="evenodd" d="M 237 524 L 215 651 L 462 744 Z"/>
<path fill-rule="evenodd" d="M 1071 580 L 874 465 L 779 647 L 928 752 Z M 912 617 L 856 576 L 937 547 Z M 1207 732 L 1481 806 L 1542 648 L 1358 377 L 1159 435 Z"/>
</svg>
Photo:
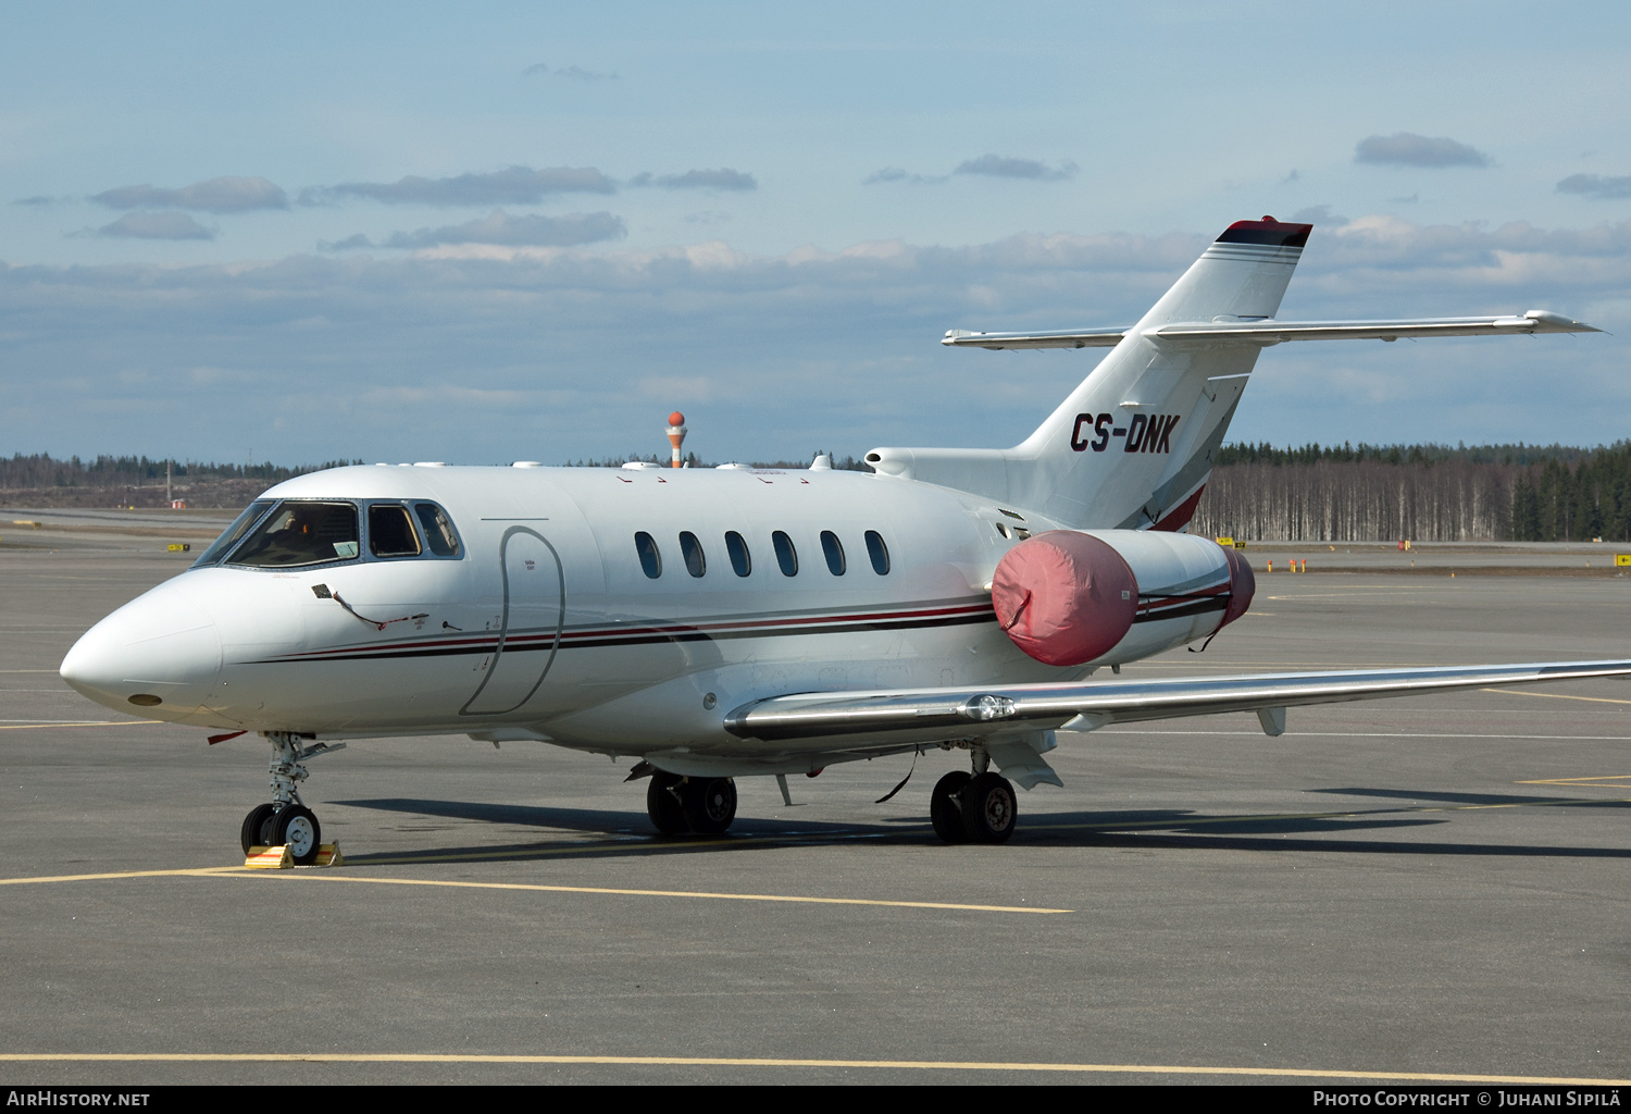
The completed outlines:
<svg viewBox="0 0 1631 1114">
<path fill-rule="evenodd" d="M 0 1063 L 582 1063 L 613 1067 L 895 1068 L 917 1072 L 1070 1072 L 1096 1075 L 1244 1075 L 1295 1080 L 1406 1080 L 1527 1086 L 1631 1086 L 1631 1080 L 1460 1072 L 1355 1072 L 1192 1063 L 1034 1063 L 1024 1060 L 817 1060 L 723 1055 L 478 1055 L 439 1052 L 0 1052 Z"/>
</svg>

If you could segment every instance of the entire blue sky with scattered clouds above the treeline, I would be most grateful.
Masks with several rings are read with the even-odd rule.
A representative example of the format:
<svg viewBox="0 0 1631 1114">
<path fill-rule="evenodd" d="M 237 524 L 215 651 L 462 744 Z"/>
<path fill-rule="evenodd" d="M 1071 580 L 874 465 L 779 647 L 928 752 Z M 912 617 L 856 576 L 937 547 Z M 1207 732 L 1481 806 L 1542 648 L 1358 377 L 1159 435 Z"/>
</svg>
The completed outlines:
<svg viewBox="0 0 1631 1114">
<path fill-rule="evenodd" d="M 1623 439 L 1623 5 L 39 5 L 0 38 L 0 452 L 489 463 L 1019 440 L 1228 222 L 1233 435 Z"/>
</svg>

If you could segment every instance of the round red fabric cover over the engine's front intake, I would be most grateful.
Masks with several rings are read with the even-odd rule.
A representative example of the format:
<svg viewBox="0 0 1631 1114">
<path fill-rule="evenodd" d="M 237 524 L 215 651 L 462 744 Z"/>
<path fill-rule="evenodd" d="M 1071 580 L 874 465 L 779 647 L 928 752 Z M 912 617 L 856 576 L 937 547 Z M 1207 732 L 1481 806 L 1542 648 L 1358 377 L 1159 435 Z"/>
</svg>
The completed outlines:
<svg viewBox="0 0 1631 1114">
<path fill-rule="evenodd" d="M 1138 581 L 1107 543 L 1049 530 L 997 563 L 992 607 L 1026 654 L 1049 665 L 1080 665 L 1109 652 L 1132 628 Z"/>
</svg>

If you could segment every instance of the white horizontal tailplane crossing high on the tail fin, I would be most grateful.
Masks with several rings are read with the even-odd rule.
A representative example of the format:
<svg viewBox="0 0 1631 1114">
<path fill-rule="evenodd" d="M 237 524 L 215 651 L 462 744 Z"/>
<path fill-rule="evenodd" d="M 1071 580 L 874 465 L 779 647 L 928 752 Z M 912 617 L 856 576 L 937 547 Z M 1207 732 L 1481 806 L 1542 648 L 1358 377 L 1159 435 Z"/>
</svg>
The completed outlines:
<svg viewBox="0 0 1631 1114">
<path fill-rule="evenodd" d="M 1398 321 L 1275 321 L 1274 318 L 1244 321 L 1173 321 L 1145 329 L 1143 334 L 1158 341 L 1205 341 L 1280 344 L 1284 341 L 1396 341 L 1429 336 L 1509 336 L 1514 333 L 1600 333 L 1590 325 L 1574 321 L 1561 313 L 1530 310 L 1522 316 L 1424 316 Z M 1112 347 L 1129 329 L 1060 329 L 1050 333 L 972 333 L 951 329 L 941 344 L 951 347 Z"/>
</svg>

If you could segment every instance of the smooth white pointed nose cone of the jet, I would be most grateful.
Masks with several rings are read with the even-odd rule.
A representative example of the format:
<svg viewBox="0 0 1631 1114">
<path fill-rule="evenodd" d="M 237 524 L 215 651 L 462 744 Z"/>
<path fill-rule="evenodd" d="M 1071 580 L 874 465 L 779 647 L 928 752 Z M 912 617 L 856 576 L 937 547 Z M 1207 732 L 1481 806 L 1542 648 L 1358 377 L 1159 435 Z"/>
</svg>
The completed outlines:
<svg viewBox="0 0 1631 1114">
<path fill-rule="evenodd" d="M 108 708 L 178 719 L 215 687 L 220 636 L 201 607 L 160 586 L 85 631 L 59 672 Z"/>
</svg>

